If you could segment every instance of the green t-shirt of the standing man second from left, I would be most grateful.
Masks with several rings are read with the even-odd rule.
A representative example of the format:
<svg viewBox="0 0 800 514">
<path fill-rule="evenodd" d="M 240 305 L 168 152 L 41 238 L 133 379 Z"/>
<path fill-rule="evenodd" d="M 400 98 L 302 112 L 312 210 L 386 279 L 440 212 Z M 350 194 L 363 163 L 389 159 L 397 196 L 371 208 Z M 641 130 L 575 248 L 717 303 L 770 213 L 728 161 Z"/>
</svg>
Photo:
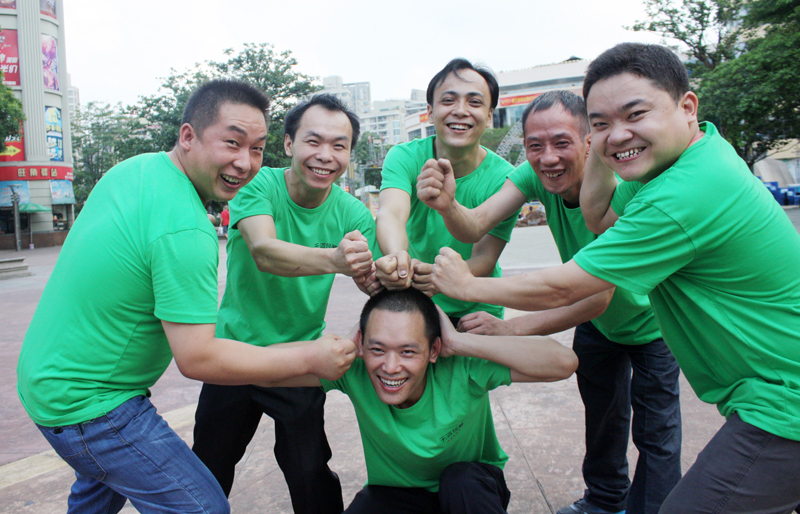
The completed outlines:
<svg viewBox="0 0 800 514">
<path fill-rule="evenodd" d="M 300 207 L 289 197 L 284 170 L 262 168 L 230 202 L 228 278 L 218 337 L 267 346 L 317 339 L 325 328 L 335 275 L 280 277 L 259 271 L 237 230 L 244 218 L 272 216 L 278 239 L 311 248 L 336 248 L 345 234 L 359 230 L 378 256 L 375 221 L 364 204 L 333 186 L 319 207 Z"/>
</svg>

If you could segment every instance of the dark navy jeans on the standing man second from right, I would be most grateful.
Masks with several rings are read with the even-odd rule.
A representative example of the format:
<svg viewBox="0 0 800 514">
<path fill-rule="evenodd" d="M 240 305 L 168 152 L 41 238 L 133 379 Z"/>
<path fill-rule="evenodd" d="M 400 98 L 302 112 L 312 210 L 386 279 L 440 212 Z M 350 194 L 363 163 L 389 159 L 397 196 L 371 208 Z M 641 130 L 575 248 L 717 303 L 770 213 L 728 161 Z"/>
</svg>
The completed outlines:
<svg viewBox="0 0 800 514">
<path fill-rule="evenodd" d="M 658 512 L 681 478 L 680 369 L 663 339 L 610 341 L 591 322 L 575 329 L 578 388 L 586 408 L 584 498 L 628 514 Z M 636 473 L 628 478 L 633 409 Z"/>
</svg>

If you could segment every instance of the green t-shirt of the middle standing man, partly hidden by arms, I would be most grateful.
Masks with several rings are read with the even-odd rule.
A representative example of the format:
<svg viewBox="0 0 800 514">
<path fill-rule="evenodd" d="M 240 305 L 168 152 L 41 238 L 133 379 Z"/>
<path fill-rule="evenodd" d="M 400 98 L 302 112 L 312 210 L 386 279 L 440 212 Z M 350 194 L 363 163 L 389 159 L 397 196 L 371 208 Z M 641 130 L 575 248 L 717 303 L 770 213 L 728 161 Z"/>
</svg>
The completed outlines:
<svg viewBox="0 0 800 514">
<path fill-rule="evenodd" d="M 428 159 L 434 158 L 433 141 L 436 136 L 415 139 L 392 147 L 383 162 L 381 172 L 381 191 L 384 189 L 402 189 L 411 196 L 411 212 L 406 224 L 408 234 L 408 253 L 422 262 L 433 263 L 439 250 L 450 247 L 461 254 L 464 260 L 472 256 L 471 244 L 462 243 L 447 231 L 444 219 L 435 210 L 429 208 L 417 198 L 417 177 Z M 456 200 L 468 209 L 477 207 L 503 187 L 506 177 L 514 171 L 514 167 L 491 150 L 486 150 L 486 158 L 475 171 L 465 177 L 456 179 Z M 492 229 L 490 234 L 508 242 L 511 230 L 517 220 L 513 214 Z M 490 277 L 499 277 L 500 266 L 495 264 Z M 433 297 L 449 316 L 461 317 L 471 312 L 487 311 L 499 318 L 503 317 L 503 308 L 487 303 L 470 303 L 453 300 L 443 294 Z"/>
</svg>

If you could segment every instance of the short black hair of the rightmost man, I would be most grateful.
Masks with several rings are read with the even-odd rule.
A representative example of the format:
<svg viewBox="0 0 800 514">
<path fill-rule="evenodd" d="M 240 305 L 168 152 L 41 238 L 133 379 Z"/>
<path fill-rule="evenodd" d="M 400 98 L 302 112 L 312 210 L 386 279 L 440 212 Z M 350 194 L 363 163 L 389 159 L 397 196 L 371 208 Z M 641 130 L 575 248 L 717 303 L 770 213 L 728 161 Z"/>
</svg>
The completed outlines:
<svg viewBox="0 0 800 514">
<path fill-rule="evenodd" d="M 583 97 L 589 98 L 592 86 L 600 80 L 633 73 L 649 79 L 679 102 L 689 88 L 689 72 L 678 56 L 662 45 L 620 43 L 592 61 L 583 79 Z"/>
</svg>

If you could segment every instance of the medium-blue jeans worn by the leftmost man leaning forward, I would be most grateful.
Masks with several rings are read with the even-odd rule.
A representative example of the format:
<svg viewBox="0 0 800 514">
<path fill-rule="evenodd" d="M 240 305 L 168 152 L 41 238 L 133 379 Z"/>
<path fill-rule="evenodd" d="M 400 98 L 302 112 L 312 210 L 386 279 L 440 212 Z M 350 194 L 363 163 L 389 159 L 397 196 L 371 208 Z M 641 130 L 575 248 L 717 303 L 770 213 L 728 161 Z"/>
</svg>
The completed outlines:
<svg viewBox="0 0 800 514">
<path fill-rule="evenodd" d="M 115 513 L 126 499 L 142 513 L 230 512 L 214 476 L 144 396 L 85 423 L 37 427 L 75 470 L 68 513 Z"/>
</svg>

